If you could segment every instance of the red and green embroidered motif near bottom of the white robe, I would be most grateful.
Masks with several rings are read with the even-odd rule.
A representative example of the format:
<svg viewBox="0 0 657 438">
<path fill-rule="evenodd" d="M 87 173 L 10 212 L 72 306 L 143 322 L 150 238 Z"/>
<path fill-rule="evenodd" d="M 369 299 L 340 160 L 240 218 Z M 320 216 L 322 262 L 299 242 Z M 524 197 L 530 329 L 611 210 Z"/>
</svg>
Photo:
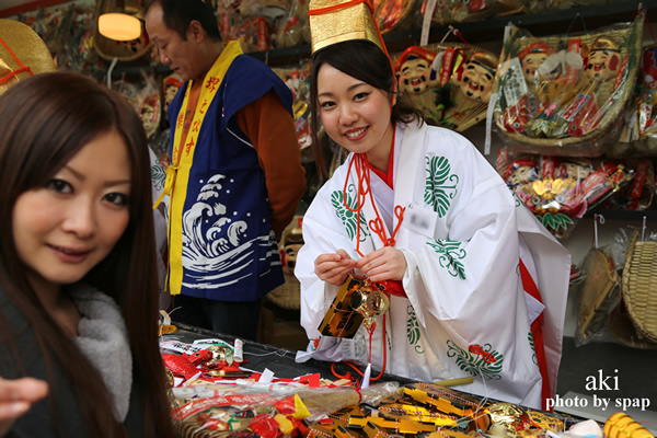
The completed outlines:
<svg viewBox="0 0 657 438">
<path fill-rule="evenodd" d="M 457 365 L 462 371 L 471 376 L 481 376 L 488 380 L 500 380 L 502 362 L 504 355 L 495 351 L 491 344 L 483 347 L 476 344 L 470 346 L 468 350 L 459 347 L 452 339 L 447 339 L 447 356 L 456 357 Z"/>
</svg>

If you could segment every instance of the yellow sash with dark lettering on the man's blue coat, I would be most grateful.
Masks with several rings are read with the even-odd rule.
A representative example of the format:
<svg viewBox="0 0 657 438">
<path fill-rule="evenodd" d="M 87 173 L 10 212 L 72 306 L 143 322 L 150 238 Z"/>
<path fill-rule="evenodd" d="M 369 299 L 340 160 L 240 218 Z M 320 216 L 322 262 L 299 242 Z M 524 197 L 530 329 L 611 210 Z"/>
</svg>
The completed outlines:
<svg viewBox="0 0 657 438">
<path fill-rule="evenodd" d="M 185 99 L 183 100 L 183 106 L 178 113 L 175 126 L 175 135 L 173 137 L 173 153 L 171 157 L 171 165 L 166 169 L 166 181 L 164 183 L 164 189 L 162 195 L 153 204 L 155 209 L 164 195 L 170 195 L 169 200 L 169 267 L 166 275 L 166 284 L 169 285 L 169 291 L 171 295 L 178 295 L 183 283 L 183 207 L 185 205 L 185 198 L 187 196 L 187 181 L 189 178 L 189 171 L 192 169 L 192 161 L 194 158 L 194 150 L 196 148 L 196 141 L 198 139 L 198 132 L 203 125 L 203 120 L 207 113 L 207 108 L 215 99 L 215 94 L 219 90 L 219 84 L 223 80 L 223 76 L 228 71 L 228 68 L 232 64 L 233 59 L 242 55 L 242 48 L 240 43 L 230 42 L 221 51 L 215 65 L 206 74 L 204 80 L 204 87 L 198 96 L 198 103 L 194 111 L 194 118 L 187 138 L 183 145 L 181 140 L 183 137 L 183 123 L 185 120 L 185 112 L 187 111 L 187 104 L 189 101 L 189 90 L 192 90 L 193 82 L 189 81 L 187 90 L 185 91 Z M 174 195 L 175 187 L 175 196 Z"/>
</svg>

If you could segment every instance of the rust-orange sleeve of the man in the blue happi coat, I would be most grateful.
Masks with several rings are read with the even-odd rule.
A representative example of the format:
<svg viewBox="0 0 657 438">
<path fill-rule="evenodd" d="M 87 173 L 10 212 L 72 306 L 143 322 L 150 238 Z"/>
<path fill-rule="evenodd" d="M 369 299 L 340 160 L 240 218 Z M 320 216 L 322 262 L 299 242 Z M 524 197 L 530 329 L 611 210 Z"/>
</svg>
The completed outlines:
<svg viewBox="0 0 657 438">
<path fill-rule="evenodd" d="M 295 122 L 274 90 L 238 111 L 235 116 L 265 172 L 272 229 L 280 239 L 306 192 L 306 170 L 301 165 Z"/>
</svg>

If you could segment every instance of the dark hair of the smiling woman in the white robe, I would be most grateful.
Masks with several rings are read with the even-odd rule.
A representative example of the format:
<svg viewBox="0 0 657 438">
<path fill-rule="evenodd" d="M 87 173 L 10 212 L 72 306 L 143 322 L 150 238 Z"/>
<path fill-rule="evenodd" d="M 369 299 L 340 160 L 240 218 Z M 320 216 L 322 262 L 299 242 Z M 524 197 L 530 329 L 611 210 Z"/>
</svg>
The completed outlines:
<svg viewBox="0 0 657 438">
<path fill-rule="evenodd" d="M 373 43 L 365 39 L 350 39 L 332 44 L 312 57 L 312 72 L 310 78 L 310 127 L 312 131 L 312 152 L 321 178 L 327 176 L 324 146 L 320 138 L 320 107 L 318 104 L 318 74 L 323 65 L 342 71 L 345 74 L 361 80 L 370 85 L 383 90 L 389 94 L 395 93 L 395 77 L 392 72 L 390 59 Z M 424 120 L 424 114 L 415 107 L 405 96 L 397 94 L 396 104 L 392 107 L 390 120 L 393 124 Z"/>
</svg>

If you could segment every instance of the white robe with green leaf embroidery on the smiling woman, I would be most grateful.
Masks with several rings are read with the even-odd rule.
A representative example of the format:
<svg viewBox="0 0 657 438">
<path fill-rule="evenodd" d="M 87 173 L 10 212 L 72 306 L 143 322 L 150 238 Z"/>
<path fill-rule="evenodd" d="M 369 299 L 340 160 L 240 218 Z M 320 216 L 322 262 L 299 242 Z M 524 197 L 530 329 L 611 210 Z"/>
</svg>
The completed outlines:
<svg viewBox="0 0 657 438">
<path fill-rule="evenodd" d="M 314 274 L 320 254 L 356 251 L 356 215 L 343 205 L 353 154 L 318 192 L 303 217 L 304 245 L 295 275 L 301 284 L 301 325 L 310 339 L 297 361 L 309 358 L 368 364 L 369 334 L 361 326 L 353 339 L 322 336 L 319 326 L 338 287 Z M 390 237 L 394 206 L 405 207 L 394 246 L 404 253 L 406 298 L 391 297 L 377 320 L 371 344 L 372 376 L 419 381 L 474 377 L 459 390 L 541 407 L 542 378 L 530 321 L 542 311 L 543 336 L 554 396 L 561 360 L 570 255 L 509 192 L 497 172 L 461 135 L 426 124 L 397 125 L 391 189 L 373 172 L 371 188 Z M 351 169 L 347 204 L 358 187 Z M 360 252 L 383 247 L 367 223 L 376 218 L 362 206 Z M 523 291 L 519 258 L 532 274 L 543 304 Z M 356 272 L 357 276 L 362 273 Z M 387 364 L 383 364 L 385 332 Z"/>
</svg>

